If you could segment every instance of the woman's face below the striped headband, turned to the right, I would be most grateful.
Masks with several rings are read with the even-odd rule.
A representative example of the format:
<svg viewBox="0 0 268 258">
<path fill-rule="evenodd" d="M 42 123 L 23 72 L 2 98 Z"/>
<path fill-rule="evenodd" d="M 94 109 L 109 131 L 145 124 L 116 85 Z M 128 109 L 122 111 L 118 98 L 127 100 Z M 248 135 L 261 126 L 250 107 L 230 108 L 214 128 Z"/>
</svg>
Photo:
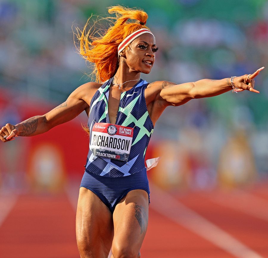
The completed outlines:
<svg viewBox="0 0 268 258">
<path fill-rule="evenodd" d="M 145 33 L 135 38 L 124 51 L 124 61 L 129 67 L 129 72 L 149 74 L 155 62 L 156 51 L 157 47 L 153 35 Z"/>
</svg>

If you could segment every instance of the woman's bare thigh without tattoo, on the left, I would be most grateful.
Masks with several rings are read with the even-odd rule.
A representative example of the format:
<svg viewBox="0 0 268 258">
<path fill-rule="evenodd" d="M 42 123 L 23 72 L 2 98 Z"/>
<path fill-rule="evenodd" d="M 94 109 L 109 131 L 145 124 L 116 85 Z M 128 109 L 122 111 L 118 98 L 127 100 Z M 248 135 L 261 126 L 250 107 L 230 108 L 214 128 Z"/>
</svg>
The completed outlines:
<svg viewBox="0 0 268 258">
<path fill-rule="evenodd" d="M 80 187 L 76 213 L 77 246 L 82 258 L 107 258 L 113 240 L 113 217 L 90 190 Z"/>
</svg>

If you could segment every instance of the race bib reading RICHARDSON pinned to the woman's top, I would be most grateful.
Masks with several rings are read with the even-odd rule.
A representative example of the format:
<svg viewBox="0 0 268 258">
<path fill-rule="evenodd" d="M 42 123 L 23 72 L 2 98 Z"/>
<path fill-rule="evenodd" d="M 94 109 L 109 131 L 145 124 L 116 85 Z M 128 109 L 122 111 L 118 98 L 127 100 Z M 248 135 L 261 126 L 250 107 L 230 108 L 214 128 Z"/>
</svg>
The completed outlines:
<svg viewBox="0 0 268 258">
<path fill-rule="evenodd" d="M 93 155 L 127 161 L 133 138 L 133 128 L 96 123 L 91 131 L 90 150 Z"/>
</svg>

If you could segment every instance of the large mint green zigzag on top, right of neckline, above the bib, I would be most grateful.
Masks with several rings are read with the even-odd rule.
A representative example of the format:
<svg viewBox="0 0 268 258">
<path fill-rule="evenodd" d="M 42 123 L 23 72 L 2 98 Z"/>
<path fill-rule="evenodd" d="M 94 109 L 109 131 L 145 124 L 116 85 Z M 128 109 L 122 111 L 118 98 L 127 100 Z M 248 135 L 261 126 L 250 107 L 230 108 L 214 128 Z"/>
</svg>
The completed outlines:
<svg viewBox="0 0 268 258">
<path fill-rule="evenodd" d="M 140 94 L 141 95 L 141 94 Z M 153 129 L 151 130 L 151 132 L 149 132 L 145 127 L 144 127 L 144 123 L 147 119 L 147 117 L 149 116 L 148 111 L 146 111 L 143 116 L 140 119 L 136 119 L 130 112 L 132 111 L 132 109 L 134 108 L 138 98 L 140 97 L 140 95 L 138 95 L 137 97 L 135 97 L 134 100 L 132 100 L 125 108 L 121 108 L 119 107 L 119 111 L 124 113 L 127 117 L 124 120 L 124 122 L 121 124 L 122 126 L 127 126 L 129 124 L 131 124 L 132 122 L 134 122 L 134 124 L 136 126 L 138 126 L 140 128 L 140 131 L 135 139 L 135 141 L 131 144 L 131 146 L 133 146 L 134 144 L 136 144 L 145 134 L 147 134 L 148 137 L 150 137 L 150 135 L 153 132 Z"/>
</svg>

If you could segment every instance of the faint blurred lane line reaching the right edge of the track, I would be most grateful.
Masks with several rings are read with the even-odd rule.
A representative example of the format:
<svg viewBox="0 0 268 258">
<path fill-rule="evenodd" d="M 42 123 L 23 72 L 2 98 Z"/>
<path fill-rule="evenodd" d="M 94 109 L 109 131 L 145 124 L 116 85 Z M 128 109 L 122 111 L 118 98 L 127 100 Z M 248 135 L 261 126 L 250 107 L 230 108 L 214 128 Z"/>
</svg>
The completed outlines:
<svg viewBox="0 0 268 258">
<path fill-rule="evenodd" d="M 239 210 L 258 219 L 268 221 L 268 201 L 264 198 L 242 190 L 235 190 L 231 193 L 216 193 L 208 195 L 206 198 L 214 203 Z"/>
</svg>

